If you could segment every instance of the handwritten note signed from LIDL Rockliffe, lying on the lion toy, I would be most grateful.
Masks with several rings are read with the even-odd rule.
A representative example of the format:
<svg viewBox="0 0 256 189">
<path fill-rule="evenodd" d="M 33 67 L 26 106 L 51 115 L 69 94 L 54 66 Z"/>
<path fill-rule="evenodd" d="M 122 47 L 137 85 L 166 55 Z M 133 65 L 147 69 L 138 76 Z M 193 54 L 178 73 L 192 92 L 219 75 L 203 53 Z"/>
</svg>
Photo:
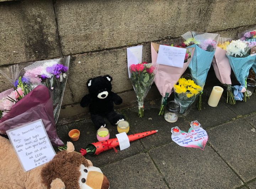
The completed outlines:
<svg viewBox="0 0 256 189">
<path fill-rule="evenodd" d="M 55 156 L 41 119 L 6 133 L 25 171 L 47 163 Z"/>
</svg>

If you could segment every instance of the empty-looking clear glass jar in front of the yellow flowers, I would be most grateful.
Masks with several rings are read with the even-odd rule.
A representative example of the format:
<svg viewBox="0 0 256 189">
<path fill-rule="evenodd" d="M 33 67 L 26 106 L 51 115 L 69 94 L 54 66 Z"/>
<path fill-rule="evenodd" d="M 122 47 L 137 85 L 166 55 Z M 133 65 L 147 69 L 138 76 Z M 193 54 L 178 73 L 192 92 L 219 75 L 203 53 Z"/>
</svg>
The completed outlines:
<svg viewBox="0 0 256 189">
<path fill-rule="evenodd" d="M 169 101 L 165 107 L 164 118 L 169 123 L 175 123 L 180 116 L 180 104 L 175 101 Z"/>
</svg>

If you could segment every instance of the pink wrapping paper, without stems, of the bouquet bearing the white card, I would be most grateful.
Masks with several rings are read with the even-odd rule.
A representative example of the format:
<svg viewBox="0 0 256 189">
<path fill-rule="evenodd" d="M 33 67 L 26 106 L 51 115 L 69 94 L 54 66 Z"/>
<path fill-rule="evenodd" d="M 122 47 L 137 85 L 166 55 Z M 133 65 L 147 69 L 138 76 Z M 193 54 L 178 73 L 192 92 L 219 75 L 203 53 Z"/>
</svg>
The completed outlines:
<svg viewBox="0 0 256 189">
<path fill-rule="evenodd" d="M 152 63 L 156 63 L 156 59 L 158 56 L 159 44 L 151 43 L 151 60 Z M 158 88 L 162 97 L 165 97 L 165 93 L 169 93 L 169 96 L 172 92 L 172 88 L 177 83 L 178 79 L 182 76 L 182 74 L 186 71 L 188 64 L 190 63 L 193 54 L 194 48 L 188 48 L 191 50 L 191 58 L 188 59 L 186 63 L 184 63 L 183 68 L 177 68 L 174 66 L 166 66 L 159 64 L 158 70 L 155 76 L 155 84 Z"/>
</svg>

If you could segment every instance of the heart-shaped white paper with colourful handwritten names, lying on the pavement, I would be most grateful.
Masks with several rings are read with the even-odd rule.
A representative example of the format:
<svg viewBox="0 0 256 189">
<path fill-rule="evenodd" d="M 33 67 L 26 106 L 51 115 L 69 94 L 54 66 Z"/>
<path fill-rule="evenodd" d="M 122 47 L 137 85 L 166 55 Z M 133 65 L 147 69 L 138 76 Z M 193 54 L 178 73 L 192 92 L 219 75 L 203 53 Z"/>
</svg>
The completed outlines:
<svg viewBox="0 0 256 189">
<path fill-rule="evenodd" d="M 172 134 L 171 138 L 172 141 L 180 146 L 203 150 L 208 140 L 208 135 L 203 128 L 199 127 L 198 129 L 190 128 L 188 133 L 181 131 L 181 134 L 178 136 Z"/>
</svg>

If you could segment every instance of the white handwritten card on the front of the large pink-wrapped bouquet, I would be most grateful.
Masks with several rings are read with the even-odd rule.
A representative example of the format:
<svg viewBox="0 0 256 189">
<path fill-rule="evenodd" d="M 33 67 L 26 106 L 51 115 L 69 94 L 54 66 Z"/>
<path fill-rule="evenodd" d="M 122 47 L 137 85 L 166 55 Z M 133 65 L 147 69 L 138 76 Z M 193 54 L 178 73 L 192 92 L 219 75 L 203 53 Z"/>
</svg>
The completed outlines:
<svg viewBox="0 0 256 189">
<path fill-rule="evenodd" d="M 186 51 L 185 48 L 159 45 L 156 62 L 162 65 L 183 68 Z"/>
</svg>

